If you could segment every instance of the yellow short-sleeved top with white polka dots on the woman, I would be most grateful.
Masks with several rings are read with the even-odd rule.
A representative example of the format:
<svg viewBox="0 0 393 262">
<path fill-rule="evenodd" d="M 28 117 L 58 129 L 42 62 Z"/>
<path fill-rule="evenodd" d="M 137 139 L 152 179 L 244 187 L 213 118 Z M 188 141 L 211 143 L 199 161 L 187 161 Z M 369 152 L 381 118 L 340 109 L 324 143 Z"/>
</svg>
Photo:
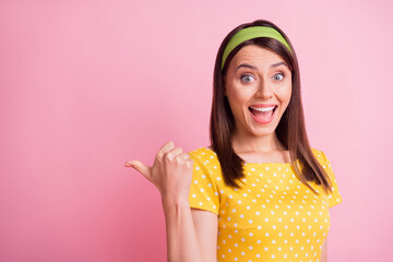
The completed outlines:
<svg viewBox="0 0 393 262">
<path fill-rule="evenodd" d="M 216 153 L 201 147 L 193 159 L 190 206 L 218 215 L 217 261 L 318 262 L 330 230 L 329 209 L 341 203 L 329 159 L 312 148 L 332 181 L 326 195 L 314 194 L 295 176 L 290 163 L 245 163 L 241 189 L 224 183 Z"/>
</svg>

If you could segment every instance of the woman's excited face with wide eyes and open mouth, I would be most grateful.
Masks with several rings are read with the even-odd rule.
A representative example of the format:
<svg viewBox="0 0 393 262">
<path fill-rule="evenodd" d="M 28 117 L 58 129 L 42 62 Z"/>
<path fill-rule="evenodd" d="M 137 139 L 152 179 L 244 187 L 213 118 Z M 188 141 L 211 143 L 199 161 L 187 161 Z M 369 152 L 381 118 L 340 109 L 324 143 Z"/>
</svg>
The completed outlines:
<svg viewBox="0 0 393 262">
<path fill-rule="evenodd" d="M 274 133 L 291 95 L 291 72 L 275 52 L 248 45 L 229 62 L 225 95 L 235 117 L 235 133 Z"/>
</svg>

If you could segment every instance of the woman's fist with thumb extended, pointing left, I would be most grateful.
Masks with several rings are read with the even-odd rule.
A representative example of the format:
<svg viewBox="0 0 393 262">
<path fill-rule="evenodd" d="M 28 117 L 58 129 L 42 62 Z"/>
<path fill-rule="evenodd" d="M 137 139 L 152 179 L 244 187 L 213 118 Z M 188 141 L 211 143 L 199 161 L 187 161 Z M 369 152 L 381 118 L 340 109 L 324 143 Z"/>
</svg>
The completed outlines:
<svg viewBox="0 0 393 262">
<path fill-rule="evenodd" d="M 163 200 L 189 201 L 193 160 L 181 147 L 175 147 L 174 142 L 163 145 L 152 167 L 139 160 L 126 162 L 124 166 L 135 168 L 154 183 Z"/>
</svg>

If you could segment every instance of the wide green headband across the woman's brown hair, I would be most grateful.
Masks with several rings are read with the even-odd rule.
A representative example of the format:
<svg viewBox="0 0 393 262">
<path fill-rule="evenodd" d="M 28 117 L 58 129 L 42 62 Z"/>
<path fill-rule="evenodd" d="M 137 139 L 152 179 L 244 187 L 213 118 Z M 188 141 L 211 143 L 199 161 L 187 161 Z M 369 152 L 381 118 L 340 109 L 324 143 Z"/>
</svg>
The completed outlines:
<svg viewBox="0 0 393 262">
<path fill-rule="evenodd" d="M 290 47 L 289 47 L 288 43 L 275 28 L 267 27 L 267 26 L 247 27 L 247 28 L 243 28 L 243 29 L 239 31 L 238 33 L 236 33 L 233 36 L 233 38 L 229 40 L 228 45 L 226 46 L 226 48 L 224 50 L 224 55 L 223 55 L 222 70 L 224 69 L 225 60 L 227 59 L 229 52 L 231 52 L 231 50 L 235 49 L 235 47 L 237 47 L 238 45 L 240 45 L 241 43 L 243 43 L 246 40 L 258 38 L 258 37 L 270 37 L 270 38 L 276 39 L 276 40 L 281 41 L 284 46 L 286 46 L 286 48 L 288 48 L 288 50 L 290 52 Z"/>
</svg>

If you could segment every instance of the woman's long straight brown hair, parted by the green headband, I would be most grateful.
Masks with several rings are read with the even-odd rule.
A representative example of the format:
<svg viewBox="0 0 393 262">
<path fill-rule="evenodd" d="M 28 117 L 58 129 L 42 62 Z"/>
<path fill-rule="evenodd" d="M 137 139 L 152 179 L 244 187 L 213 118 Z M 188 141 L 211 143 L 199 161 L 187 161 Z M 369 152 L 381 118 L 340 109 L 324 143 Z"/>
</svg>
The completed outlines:
<svg viewBox="0 0 393 262">
<path fill-rule="evenodd" d="M 222 70 L 223 52 L 228 41 L 237 32 L 250 26 L 270 26 L 275 28 L 287 40 L 291 52 L 289 52 L 289 50 L 276 39 L 267 37 L 253 38 L 237 46 L 228 55 Z M 295 49 L 285 33 L 275 24 L 266 20 L 257 20 L 252 23 L 239 25 L 233 29 L 224 38 L 215 60 L 210 139 L 212 147 L 217 154 L 221 163 L 225 183 L 233 188 L 240 188 L 237 181 L 241 182 L 240 178 L 245 177 L 242 169 L 245 160 L 235 153 L 233 147 L 231 134 L 235 129 L 235 119 L 230 110 L 228 99 L 224 94 L 224 78 L 230 60 L 246 45 L 258 45 L 270 49 L 282 57 L 288 64 L 288 68 L 291 71 L 293 92 L 288 107 L 283 114 L 275 130 L 276 135 L 289 151 L 290 159 L 294 164 L 293 167 L 295 168 L 295 174 L 299 180 L 309 187 L 314 193 L 317 193 L 315 190 L 308 183 L 308 181 L 314 181 L 317 184 L 322 184 L 325 192 L 331 192 L 332 186 L 329 176 L 315 159 L 307 138 L 300 97 L 300 72 Z M 299 160 L 299 166 L 297 165 L 296 159 Z"/>
</svg>

